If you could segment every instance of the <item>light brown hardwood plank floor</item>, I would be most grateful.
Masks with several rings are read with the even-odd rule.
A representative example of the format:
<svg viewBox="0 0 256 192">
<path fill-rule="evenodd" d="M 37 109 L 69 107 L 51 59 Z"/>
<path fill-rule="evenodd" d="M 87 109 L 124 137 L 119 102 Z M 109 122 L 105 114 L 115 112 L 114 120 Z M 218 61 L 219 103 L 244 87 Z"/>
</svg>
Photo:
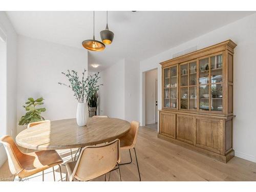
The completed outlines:
<svg viewBox="0 0 256 192">
<path fill-rule="evenodd" d="M 140 127 L 136 152 L 142 181 L 256 181 L 256 163 L 238 157 L 232 158 L 227 164 L 212 160 L 158 139 L 154 125 Z M 70 160 L 69 150 L 60 150 L 58 153 L 65 162 Z M 123 181 L 139 180 L 134 151 L 132 157 L 133 163 L 120 166 Z M 128 151 L 121 153 L 121 160 L 130 160 Z M 45 181 L 53 181 L 50 172 L 52 169 L 46 171 Z M 62 172 L 65 180 L 64 165 Z M 59 173 L 55 173 L 55 176 L 57 180 L 60 179 Z M 8 162 L 0 168 L 0 180 L 6 178 L 13 180 Z M 41 181 L 41 173 L 29 178 L 29 181 Z M 104 181 L 104 177 L 99 177 L 95 181 Z M 117 171 L 111 173 L 111 181 L 118 181 Z"/>
</svg>

